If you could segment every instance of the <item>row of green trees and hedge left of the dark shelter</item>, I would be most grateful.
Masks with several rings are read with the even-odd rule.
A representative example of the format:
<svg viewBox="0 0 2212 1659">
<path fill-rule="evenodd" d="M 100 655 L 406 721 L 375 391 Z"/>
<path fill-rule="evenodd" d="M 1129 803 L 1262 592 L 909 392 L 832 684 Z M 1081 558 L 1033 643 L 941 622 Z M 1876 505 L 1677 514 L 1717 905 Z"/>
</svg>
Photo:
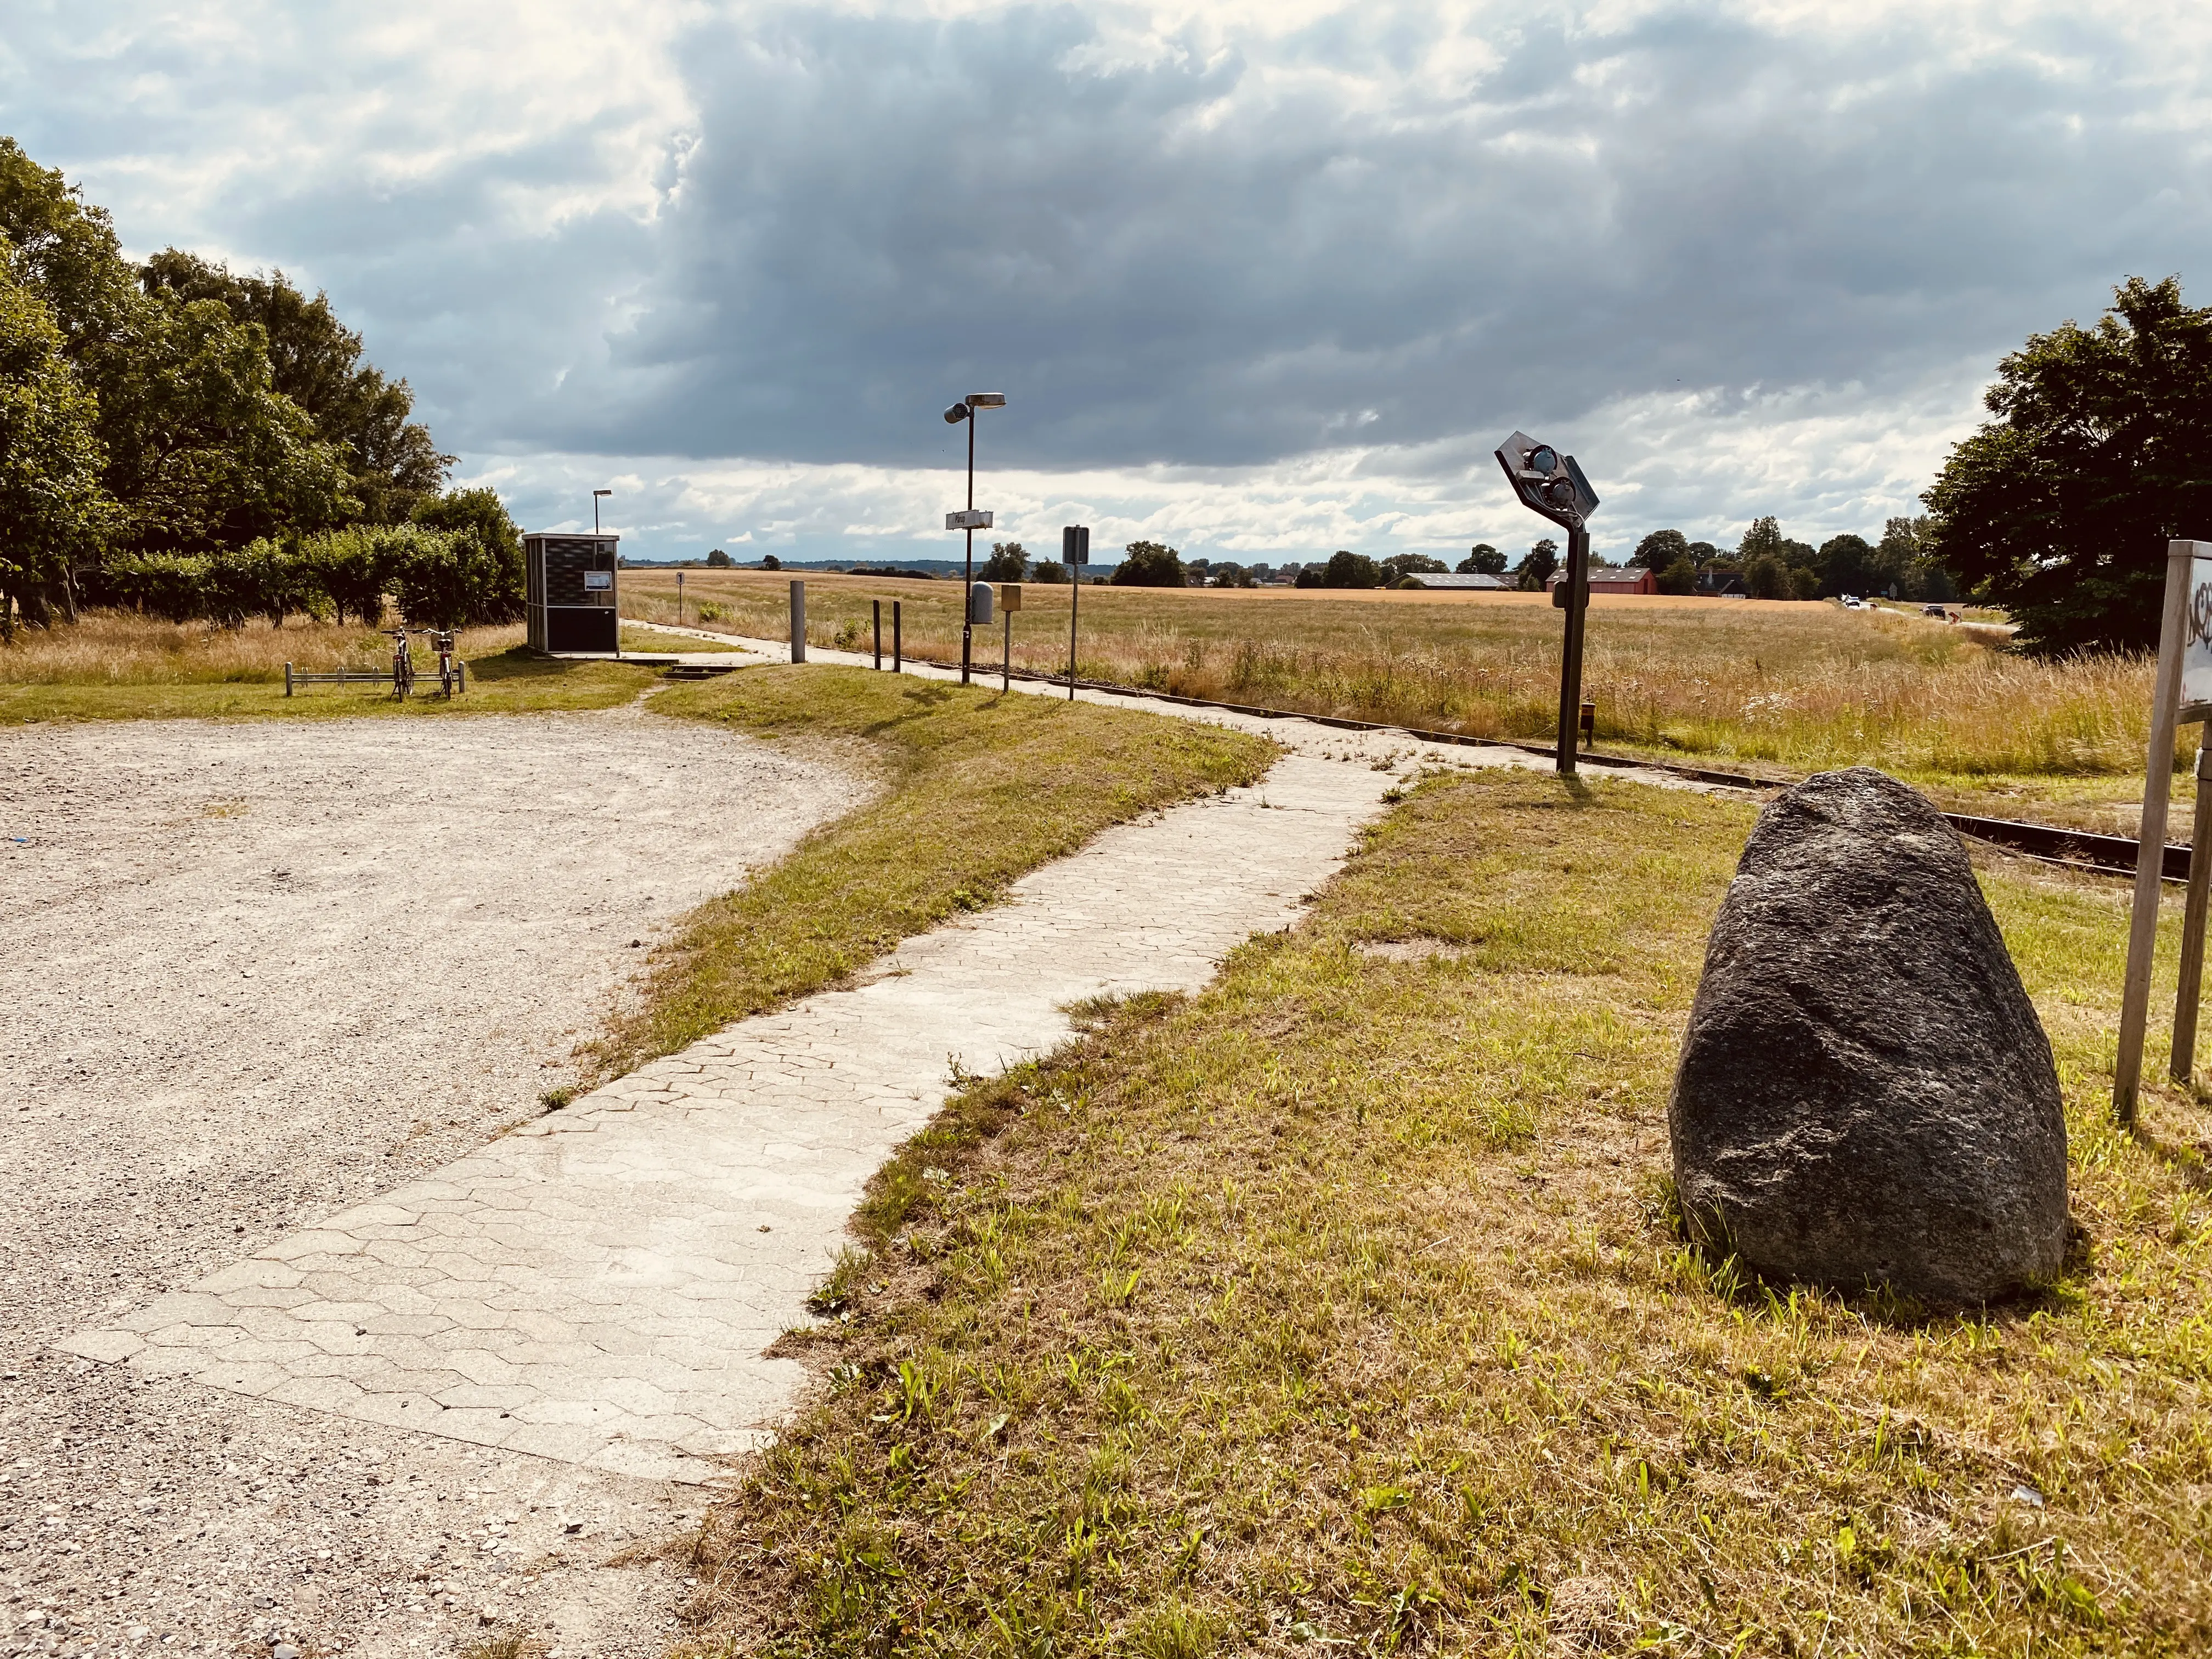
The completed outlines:
<svg viewBox="0 0 2212 1659">
<path fill-rule="evenodd" d="M 456 626 L 522 615 L 522 540 L 414 392 L 283 272 L 124 257 L 0 137 L 0 635 L 122 604 Z"/>
</svg>

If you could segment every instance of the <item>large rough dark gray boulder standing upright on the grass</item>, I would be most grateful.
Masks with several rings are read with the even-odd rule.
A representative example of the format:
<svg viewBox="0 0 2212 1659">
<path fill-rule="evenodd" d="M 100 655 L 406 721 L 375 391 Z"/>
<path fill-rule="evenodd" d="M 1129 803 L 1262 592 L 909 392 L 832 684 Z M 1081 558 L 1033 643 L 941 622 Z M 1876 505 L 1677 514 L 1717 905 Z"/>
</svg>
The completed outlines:
<svg viewBox="0 0 2212 1659">
<path fill-rule="evenodd" d="M 1759 814 L 1668 1108 L 1692 1232 L 1765 1279 L 1982 1303 L 2066 1254 L 2051 1042 L 1958 832 L 1874 768 Z"/>
</svg>

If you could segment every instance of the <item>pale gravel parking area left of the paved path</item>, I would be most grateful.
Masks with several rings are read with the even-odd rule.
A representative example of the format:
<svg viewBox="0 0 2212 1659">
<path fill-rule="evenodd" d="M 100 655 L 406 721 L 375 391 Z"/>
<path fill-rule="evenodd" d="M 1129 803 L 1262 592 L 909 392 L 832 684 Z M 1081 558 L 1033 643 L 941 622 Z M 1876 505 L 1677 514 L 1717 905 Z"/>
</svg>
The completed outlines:
<svg viewBox="0 0 2212 1659">
<path fill-rule="evenodd" d="M 863 790 L 641 710 L 0 732 L 0 1655 L 664 1648 L 695 1486 L 51 1343 L 535 1117 Z"/>
</svg>

